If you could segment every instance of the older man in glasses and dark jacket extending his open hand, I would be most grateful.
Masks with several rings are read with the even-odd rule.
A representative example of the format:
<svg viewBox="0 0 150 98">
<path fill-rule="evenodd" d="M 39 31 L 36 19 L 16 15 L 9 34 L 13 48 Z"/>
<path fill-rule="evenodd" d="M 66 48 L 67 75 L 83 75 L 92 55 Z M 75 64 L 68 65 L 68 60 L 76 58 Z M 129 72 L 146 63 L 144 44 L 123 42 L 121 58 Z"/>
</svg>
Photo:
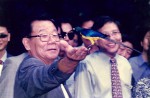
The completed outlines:
<svg viewBox="0 0 150 98">
<path fill-rule="evenodd" d="M 18 66 L 12 98 L 65 98 L 60 84 L 85 58 L 87 49 L 61 41 L 54 21 L 48 18 L 34 18 L 26 26 L 29 34 L 22 42 L 28 55 Z M 57 59 L 60 49 L 67 55 Z"/>
</svg>

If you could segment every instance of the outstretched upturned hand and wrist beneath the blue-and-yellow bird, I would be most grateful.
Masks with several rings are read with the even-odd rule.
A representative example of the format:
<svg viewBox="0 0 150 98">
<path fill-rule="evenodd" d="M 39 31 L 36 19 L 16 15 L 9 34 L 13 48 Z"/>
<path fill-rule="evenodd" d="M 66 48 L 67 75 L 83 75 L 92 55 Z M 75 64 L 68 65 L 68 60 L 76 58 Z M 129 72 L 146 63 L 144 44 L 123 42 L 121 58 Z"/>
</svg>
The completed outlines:
<svg viewBox="0 0 150 98">
<path fill-rule="evenodd" d="M 64 40 L 60 41 L 60 48 L 66 52 L 66 57 L 60 60 L 58 68 L 65 73 L 72 73 L 79 61 L 88 54 L 86 47 L 72 47 Z"/>
</svg>

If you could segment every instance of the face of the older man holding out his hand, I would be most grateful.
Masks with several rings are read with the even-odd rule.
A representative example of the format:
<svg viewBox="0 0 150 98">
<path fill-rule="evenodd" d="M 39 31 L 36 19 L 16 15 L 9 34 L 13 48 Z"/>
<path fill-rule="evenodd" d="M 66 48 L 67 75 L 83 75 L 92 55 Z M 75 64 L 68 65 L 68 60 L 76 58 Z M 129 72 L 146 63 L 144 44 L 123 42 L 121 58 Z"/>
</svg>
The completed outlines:
<svg viewBox="0 0 150 98">
<path fill-rule="evenodd" d="M 51 21 L 34 21 L 32 23 L 32 33 L 34 35 L 47 34 L 48 41 L 42 41 L 40 37 L 32 37 L 28 39 L 27 50 L 32 56 L 43 61 L 50 61 L 57 58 L 59 53 L 59 41 L 55 40 L 53 35 L 58 35 L 57 29 Z"/>
</svg>

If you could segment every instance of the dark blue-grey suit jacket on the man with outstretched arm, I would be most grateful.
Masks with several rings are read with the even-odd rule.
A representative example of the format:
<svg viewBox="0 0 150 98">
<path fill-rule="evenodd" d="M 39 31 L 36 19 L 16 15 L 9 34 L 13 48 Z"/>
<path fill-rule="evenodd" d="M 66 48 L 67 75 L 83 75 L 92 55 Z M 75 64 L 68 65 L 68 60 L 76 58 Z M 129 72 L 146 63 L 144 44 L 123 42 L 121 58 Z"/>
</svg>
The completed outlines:
<svg viewBox="0 0 150 98">
<path fill-rule="evenodd" d="M 71 74 L 59 71 L 57 63 L 45 65 L 34 57 L 26 57 L 17 72 L 14 98 L 64 98 L 60 84 Z"/>
</svg>

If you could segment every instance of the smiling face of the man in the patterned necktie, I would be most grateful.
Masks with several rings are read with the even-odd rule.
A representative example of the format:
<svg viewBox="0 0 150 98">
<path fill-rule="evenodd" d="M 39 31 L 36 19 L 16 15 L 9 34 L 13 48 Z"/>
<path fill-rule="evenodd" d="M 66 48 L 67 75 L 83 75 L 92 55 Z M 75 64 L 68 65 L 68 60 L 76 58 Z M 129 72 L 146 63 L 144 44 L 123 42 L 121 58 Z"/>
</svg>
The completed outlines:
<svg viewBox="0 0 150 98">
<path fill-rule="evenodd" d="M 98 30 L 99 32 L 102 32 L 103 34 L 108 35 L 108 37 L 111 40 L 114 40 L 116 42 L 121 42 L 122 37 L 121 33 L 119 31 L 119 28 L 117 25 L 113 22 L 108 22 L 104 24 L 102 28 Z M 105 52 L 109 56 L 114 56 L 119 49 L 119 45 L 115 44 L 113 42 L 107 41 L 105 39 L 99 39 L 97 41 L 97 44 L 100 46 L 103 52 Z"/>
</svg>

